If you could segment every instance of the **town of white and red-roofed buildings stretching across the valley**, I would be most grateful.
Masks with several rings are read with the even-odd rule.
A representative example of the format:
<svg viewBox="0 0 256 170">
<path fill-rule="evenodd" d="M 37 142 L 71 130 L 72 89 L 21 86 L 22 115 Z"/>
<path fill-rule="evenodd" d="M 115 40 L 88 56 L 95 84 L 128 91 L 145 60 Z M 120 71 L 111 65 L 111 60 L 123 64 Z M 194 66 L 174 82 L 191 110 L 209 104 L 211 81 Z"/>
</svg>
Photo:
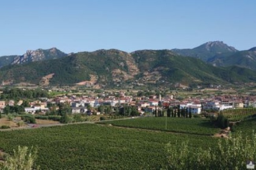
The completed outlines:
<svg viewBox="0 0 256 170">
<path fill-rule="evenodd" d="M 33 93 L 33 91 L 37 91 L 37 93 L 40 91 L 43 95 L 36 99 L 33 97 L 20 98 L 24 95 L 23 93 Z M 129 116 L 176 117 L 174 113 L 171 115 L 167 113 L 168 108 L 178 109 L 177 112 L 186 109 L 187 114 L 190 113 L 196 117 L 198 115 L 217 115 L 223 110 L 256 107 L 256 97 L 254 95 L 217 95 L 213 93 L 210 96 L 186 96 L 181 98 L 177 93 L 161 94 L 159 91 L 155 93 L 154 91 L 87 90 L 84 93 L 73 93 L 72 90 L 65 89 L 54 92 L 46 89 L 11 88 L 2 91 L 2 98 L 4 98 L 5 93 L 17 93 L 20 96 L 13 95 L 15 99 L 12 99 L 9 95 L 7 99 L 0 100 L 2 117 L 4 115 L 24 117 L 25 115 L 25 117 L 32 116 L 36 119 L 50 119 L 62 123 L 88 120 L 100 121 Z M 58 95 L 50 96 L 50 93 Z M 157 114 L 157 112 L 161 114 Z M 63 117 L 65 114 L 77 119 L 61 121 L 61 116 Z M 97 117 L 91 120 L 89 119 L 91 115 Z M 118 116 L 114 117 L 113 115 Z M 82 117 L 86 117 L 86 119 L 82 119 Z M 177 117 L 180 117 L 179 113 L 177 113 Z M 36 121 L 32 122 L 36 123 Z"/>
</svg>

